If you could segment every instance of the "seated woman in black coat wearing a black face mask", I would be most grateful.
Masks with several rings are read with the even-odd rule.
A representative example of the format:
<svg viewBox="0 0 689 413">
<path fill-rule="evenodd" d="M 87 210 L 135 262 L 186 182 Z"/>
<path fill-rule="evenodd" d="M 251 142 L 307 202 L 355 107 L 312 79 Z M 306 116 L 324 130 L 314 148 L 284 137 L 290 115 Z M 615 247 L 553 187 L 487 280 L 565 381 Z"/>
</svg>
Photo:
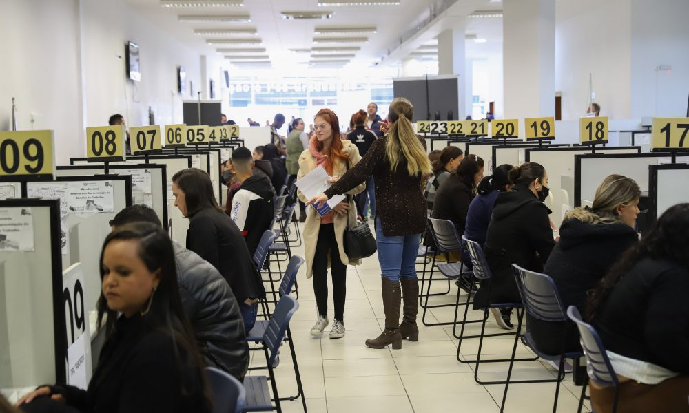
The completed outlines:
<svg viewBox="0 0 689 413">
<path fill-rule="evenodd" d="M 514 167 L 508 178 L 515 182 L 511 191 L 495 198 L 493 217 L 486 233 L 486 261 L 491 268 L 490 295 L 483 284 L 474 298 L 474 308 L 491 303 L 520 302 L 512 264 L 527 270 L 543 271 L 543 265 L 555 245 L 548 214 L 543 204 L 548 196 L 548 173 L 536 162 Z M 497 325 L 514 328 L 511 308 L 491 308 Z"/>
</svg>

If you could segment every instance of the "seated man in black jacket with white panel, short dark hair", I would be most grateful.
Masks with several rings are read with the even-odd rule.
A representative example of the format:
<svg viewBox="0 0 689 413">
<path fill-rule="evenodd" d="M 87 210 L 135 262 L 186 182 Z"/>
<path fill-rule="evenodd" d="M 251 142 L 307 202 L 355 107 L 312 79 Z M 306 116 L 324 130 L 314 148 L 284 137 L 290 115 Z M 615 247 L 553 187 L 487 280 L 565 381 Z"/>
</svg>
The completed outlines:
<svg viewBox="0 0 689 413">
<path fill-rule="evenodd" d="M 232 152 L 232 173 L 241 185 L 232 197 L 229 216 L 242 231 L 251 255 L 275 215 L 272 184 L 265 176 L 255 176 L 253 169 L 254 158 L 249 149 L 240 147 Z"/>
</svg>

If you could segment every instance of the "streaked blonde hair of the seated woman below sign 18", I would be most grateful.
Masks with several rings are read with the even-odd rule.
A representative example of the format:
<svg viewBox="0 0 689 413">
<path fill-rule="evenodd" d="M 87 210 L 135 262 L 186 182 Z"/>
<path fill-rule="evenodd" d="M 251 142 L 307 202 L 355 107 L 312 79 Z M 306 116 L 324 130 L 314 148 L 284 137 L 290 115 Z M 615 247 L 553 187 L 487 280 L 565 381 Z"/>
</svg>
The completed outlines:
<svg viewBox="0 0 689 413">
<path fill-rule="evenodd" d="M 596 189 L 590 209 L 577 207 L 564 216 L 564 220 L 579 220 L 584 224 L 614 224 L 620 221 L 617 207 L 629 205 L 641 197 L 637 182 L 621 175 L 610 175 Z"/>
</svg>

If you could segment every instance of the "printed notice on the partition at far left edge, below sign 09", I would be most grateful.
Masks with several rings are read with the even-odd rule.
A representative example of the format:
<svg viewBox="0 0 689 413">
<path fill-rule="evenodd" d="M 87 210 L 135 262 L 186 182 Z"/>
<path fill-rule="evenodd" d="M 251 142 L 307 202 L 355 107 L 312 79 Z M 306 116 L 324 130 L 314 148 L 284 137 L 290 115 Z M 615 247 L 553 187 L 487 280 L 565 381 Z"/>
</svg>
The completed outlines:
<svg viewBox="0 0 689 413">
<path fill-rule="evenodd" d="M 0 251 L 34 251 L 34 219 L 30 208 L 0 208 Z"/>
</svg>

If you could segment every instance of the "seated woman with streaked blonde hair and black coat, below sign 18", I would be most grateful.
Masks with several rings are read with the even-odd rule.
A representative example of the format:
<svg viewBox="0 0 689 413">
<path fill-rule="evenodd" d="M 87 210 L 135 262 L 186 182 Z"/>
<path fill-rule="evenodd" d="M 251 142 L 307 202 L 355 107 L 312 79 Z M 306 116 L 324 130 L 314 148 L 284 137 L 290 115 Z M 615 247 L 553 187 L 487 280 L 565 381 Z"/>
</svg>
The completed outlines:
<svg viewBox="0 0 689 413">
<path fill-rule="evenodd" d="M 588 290 L 595 288 L 620 255 L 639 240 L 634 224 L 640 196 L 641 189 L 633 179 L 610 175 L 596 189 L 592 208 L 575 208 L 564 216 L 559 242 L 543 272 L 555 281 L 565 308 L 577 306 L 584 314 Z M 526 321 L 542 352 L 560 354 L 563 348 L 564 352 L 581 351 L 576 324 L 549 323 L 529 315 Z"/>
</svg>

